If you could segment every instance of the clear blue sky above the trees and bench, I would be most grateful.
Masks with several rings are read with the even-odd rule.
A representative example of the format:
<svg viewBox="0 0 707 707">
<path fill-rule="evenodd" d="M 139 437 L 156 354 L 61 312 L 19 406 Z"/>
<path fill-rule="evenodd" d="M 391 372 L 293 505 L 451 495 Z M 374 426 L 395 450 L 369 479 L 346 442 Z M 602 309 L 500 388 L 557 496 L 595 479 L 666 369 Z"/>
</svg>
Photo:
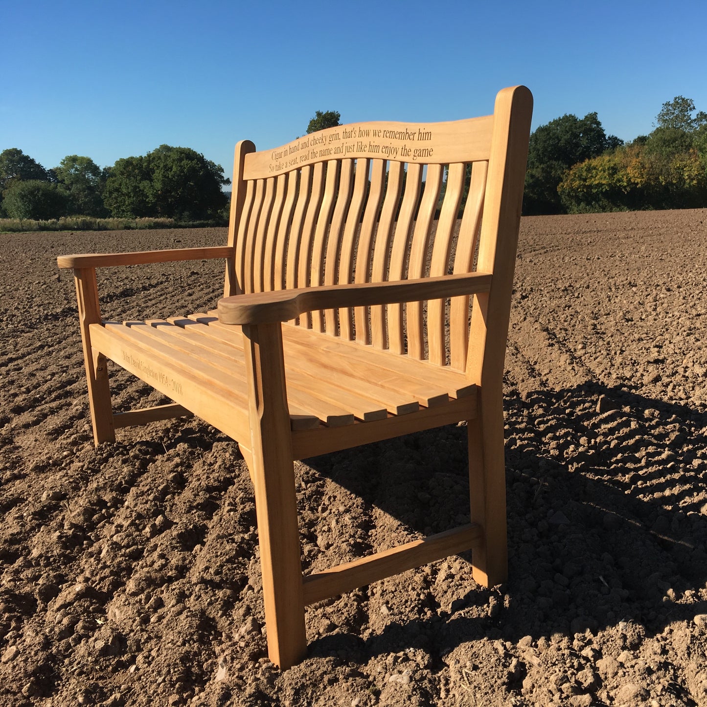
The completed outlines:
<svg viewBox="0 0 707 707">
<path fill-rule="evenodd" d="M 704 0 L 0 0 L 0 26 L 0 151 L 46 168 L 170 144 L 230 176 L 236 141 L 279 146 L 315 110 L 450 120 L 518 83 L 533 129 L 597 111 L 632 139 L 676 95 L 707 110 Z"/>
</svg>

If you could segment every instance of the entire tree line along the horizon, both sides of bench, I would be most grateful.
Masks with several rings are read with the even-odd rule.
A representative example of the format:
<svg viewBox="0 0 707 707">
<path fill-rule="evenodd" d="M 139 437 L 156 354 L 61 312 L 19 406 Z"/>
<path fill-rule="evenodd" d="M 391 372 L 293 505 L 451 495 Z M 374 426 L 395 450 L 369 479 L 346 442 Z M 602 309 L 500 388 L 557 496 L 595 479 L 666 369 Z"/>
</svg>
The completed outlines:
<svg viewBox="0 0 707 707">
<path fill-rule="evenodd" d="M 307 132 L 339 125 L 340 117 L 317 110 Z M 221 165 L 185 147 L 160 145 L 103 169 L 69 155 L 49 170 L 10 148 L 0 153 L 0 217 L 207 221 L 226 215 L 228 184 Z M 596 112 L 563 115 L 530 135 L 525 215 L 701 206 L 707 206 L 707 113 L 690 98 L 664 103 L 653 132 L 625 143 L 604 132 Z"/>
</svg>

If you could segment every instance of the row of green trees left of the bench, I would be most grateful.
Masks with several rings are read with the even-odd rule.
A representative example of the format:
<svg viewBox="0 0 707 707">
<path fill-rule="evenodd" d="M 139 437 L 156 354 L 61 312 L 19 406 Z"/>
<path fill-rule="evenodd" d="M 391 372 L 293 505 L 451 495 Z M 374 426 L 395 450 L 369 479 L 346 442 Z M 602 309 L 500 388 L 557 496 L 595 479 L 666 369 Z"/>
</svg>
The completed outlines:
<svg viewBox="0 0 707 707">
<path fill-rule="evenodd" d="M 223 215 L 230 184 L 223 168 L 186 147 L 160 145 L 144 156 L 100 168 L 90 157 L 66 156 L 45 169 L 18 148 L 0 153 L 0 217 L 174 218 Z"/>
</svg>

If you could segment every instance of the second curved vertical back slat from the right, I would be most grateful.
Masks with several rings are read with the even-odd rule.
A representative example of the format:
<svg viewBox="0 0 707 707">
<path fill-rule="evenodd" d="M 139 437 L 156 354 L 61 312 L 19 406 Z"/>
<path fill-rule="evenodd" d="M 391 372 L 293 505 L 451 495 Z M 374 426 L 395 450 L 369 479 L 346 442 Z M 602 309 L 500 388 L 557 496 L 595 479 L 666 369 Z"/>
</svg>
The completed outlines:
<svg viewBox="0 0 707 707">
<path fill-rule="evenodd" d="M 452 233 L 457 223 L 459 204 L 464 190 L 464 165 L 449 165 L 447 188 L 435 233 L 435 245 L 432 251 L 430 277 L 446 275 L 450 267 Z M 438 366 L 447 363 L 445 351 L 445 300 L 429 300 L 427 303 L 427 344 L 428 359 Z"/>
</svg>

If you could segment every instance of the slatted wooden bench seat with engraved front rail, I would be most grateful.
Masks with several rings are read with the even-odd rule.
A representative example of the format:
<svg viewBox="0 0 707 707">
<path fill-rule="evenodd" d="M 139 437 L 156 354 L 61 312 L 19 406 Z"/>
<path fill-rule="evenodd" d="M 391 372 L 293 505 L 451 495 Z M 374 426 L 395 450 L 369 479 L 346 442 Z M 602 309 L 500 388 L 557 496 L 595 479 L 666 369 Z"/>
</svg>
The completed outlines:
<svg viewBox="0 0 707 707">
<path fill-rule="evenodd" d="M 291 430 L 294 440 L 303 442 L 295 442 L 301 455 L 295 458 L 341 448 L 338 440 L 353 431 L 329 433 L 327 444 L 327 432 L 334 428 L 355 425 L 353 446 L 361 444 L 361 433 L 370 441 L 397 436 L 393 419 L 399 416 L 406 417 L 406 429 L 415 426 L 410 416 L 419 417 L 419 429 L 424 429 L 433 416 L 445 424 L 475 414 L 477 387 L 460 371 L 322 337 L 303 327 L 282 330 Z M 237 440 L 250 439 L 240 326 L 219 322 L 214 310 L 168 320 L 93 324 L 90 336 L 94 349 L 148 380 L 185 414 L 192 411 Z M 120 414 L 114 418 L 117 427 L 129 424 L 122 424 Z M 363 432 L 361 423 L 370 430 Z"/>
</svg>

